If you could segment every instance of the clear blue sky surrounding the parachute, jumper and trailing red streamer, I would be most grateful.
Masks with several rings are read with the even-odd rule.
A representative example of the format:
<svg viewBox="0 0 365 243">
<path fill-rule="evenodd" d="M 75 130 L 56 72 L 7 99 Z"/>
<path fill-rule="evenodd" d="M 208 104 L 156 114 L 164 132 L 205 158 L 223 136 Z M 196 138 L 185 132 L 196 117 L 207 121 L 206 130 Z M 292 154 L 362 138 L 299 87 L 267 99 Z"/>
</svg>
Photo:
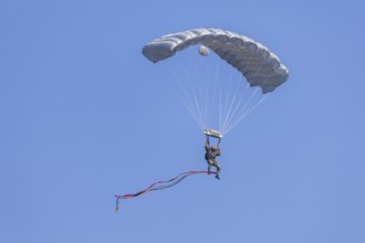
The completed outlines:
<svg viewBox="0 0 365 243">
<path fill-rule="evenodd" d="M 0 1 L 0 242 L 365 242 L 363 1 Z M 222 141 L 222 179 L 159 64 L 163 34 L 250 36 L 291 72 Z M 178 57 L 178 55 L 176 56 Z"/>
</svg>

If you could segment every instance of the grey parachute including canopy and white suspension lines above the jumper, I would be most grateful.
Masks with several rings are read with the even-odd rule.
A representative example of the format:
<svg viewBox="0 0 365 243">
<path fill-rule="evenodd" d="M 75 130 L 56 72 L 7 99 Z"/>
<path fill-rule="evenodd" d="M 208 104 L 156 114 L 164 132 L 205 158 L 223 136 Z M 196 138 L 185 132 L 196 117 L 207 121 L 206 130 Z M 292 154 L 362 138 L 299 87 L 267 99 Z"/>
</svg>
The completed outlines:
<svg viewBox="0 0 365 243">
<path fill-rule="evenodd" d="M 250 87 L 260 87 L 262 93 L 262 97 L 255 98 L 255 89 L 248 92 L 243 87 L 246 82 L 228 81 L 231 78 L 227 74 L 220 75 L 222 81 L 216 81 L 215 67 L 206 68 L 206 78 L 202 78 L 200 71 L 191 77 L 194 70 L 204 68 L 186 68 L 187 75 L 184 77 L 175 75 L 182 87 L 185 105 L 202 130 L 213 128 L 221 137 L 225 136 L 263 102 L 265 94 L 273 92 L 289 77 L 288 68 L 268 47 L 248 36 L 219 29 L 195 29 L 164 35 L 147 43 L 142 53 L 150 62 L 157 63 L 197 44 L 200 45 L 200 55 L 196 56 L 202 56 L 201 62 L 207 62 L 209 50 L 212 51 L 239 71 L 240 78 L 246 78 Z M 200 57 L 196 56 L 189 63 L 198 63 Z M 216 122 L 211 122 L 211 114 L 218 117 Z"/>
</svg>

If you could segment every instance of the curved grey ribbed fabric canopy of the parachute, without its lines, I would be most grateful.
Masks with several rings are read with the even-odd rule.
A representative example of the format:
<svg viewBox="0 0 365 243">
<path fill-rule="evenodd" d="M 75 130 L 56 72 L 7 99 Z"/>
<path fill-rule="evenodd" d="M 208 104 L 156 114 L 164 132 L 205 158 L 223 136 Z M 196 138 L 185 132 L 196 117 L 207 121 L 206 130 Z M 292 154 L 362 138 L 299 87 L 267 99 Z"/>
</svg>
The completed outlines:
<svg viewBox="0 0 365 243">
<path fill-rule="evenodd" d="M 157 63 L 195 44 L 212 50 L 241 72 L 250 86 L 260 86 L 262 93 L 274 91 L 289 77 L 288 68 L 265 46 L 250 38 L 218 29 L 196 29 L 164 35 L 145 45 L 143 54 Z"/>
</svg>

